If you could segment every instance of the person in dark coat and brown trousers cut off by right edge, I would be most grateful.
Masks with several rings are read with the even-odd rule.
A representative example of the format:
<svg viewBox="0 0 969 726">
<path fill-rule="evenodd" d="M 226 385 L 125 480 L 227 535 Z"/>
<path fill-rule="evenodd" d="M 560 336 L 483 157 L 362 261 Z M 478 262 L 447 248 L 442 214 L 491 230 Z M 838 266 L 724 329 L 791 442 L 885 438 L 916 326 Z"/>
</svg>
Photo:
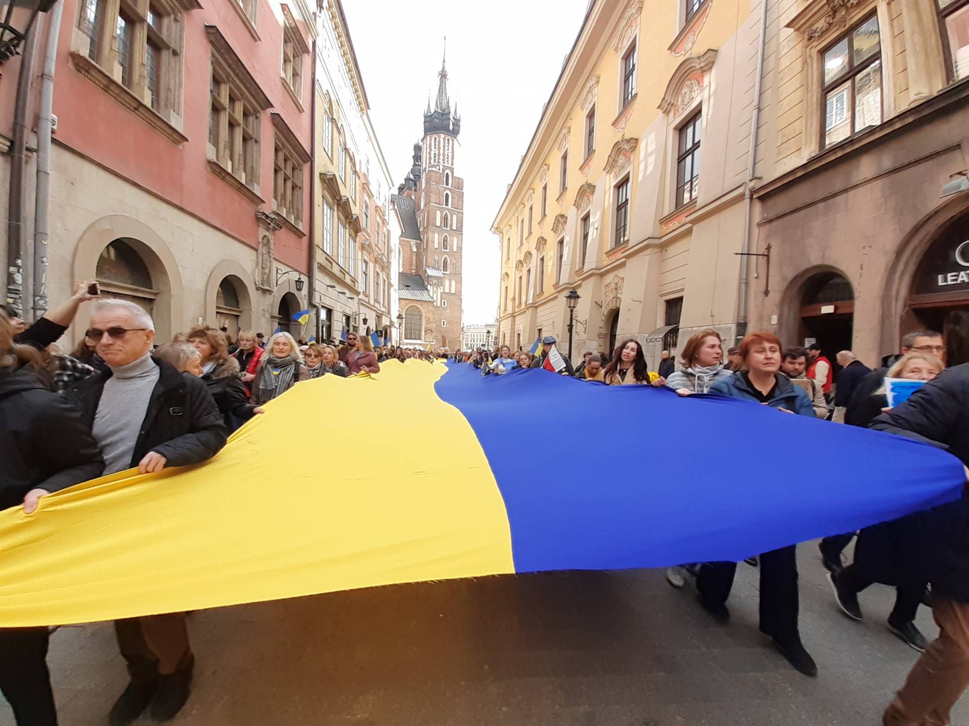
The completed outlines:
<svg viewBox="0 0 969 726">
<path fill-rule="evenodd" d="M 969 464 L 969 364 L 928 381 L 871 428 L 947 448 Z M 898 525 L 898 551 L 907 554 L 901 577 L 931 583 L 940 633 L 885 711 L 884 723 L 950 723 L 950 711 L 969 687 L 969 498 L 963 493 L 960 501 Z"/>
</svg>

